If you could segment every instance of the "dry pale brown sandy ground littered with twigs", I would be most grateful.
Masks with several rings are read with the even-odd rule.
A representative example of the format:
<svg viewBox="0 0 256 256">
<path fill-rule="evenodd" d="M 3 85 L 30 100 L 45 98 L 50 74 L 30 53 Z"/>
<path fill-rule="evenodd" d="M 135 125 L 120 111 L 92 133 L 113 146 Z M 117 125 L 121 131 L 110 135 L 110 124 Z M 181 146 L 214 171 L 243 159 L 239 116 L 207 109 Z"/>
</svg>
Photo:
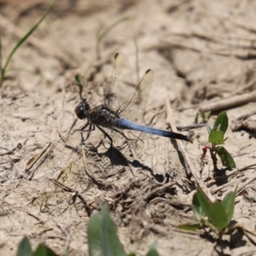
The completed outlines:
<svg viewBox="0 0 256 256">
<path fill-rule="evenodd" d="M 49 3 L 0 1 L 3 61 Z M 33 248 L 44 242 L 61 255 L 87 255 L 90 215 L 108 201 L 127 253 L 143 255 L 157 241 L 160 255 L 256 255 L 245 236 L 224 236 L 215 250 L 210 236 L 176 228 L 195 220 L 189 206 L 199 183 L 212 199 L 236 185 L 245 189 L 234 218 L 255 230 L 256 172 L 248 167 L 256 164 L 255 10 L 256 1 L 239 0 L 58 1 L 15 54 L 1 88 L 0 254 L 15 255 L 28 236 Z M 212 160 L 201 161 L 206 127 L 180 131 L 193 135 L 193 144 L 125 132 L 128 147 L 111 132 L 112 153 L 95 131 L 90 142 L 100 147 L 84 161 L 81 151 L 64 146 L 60 137 L 73 147 L 80 142 L 79 132 L 67 135 L 80 100 L 74 76 L 84 76 L 87 101 L 100 104 L 117 52 L 128 56 L 133 81 L 154 69 L 146 124 L 180 128 L 193 125 L 199 110 L 210 110 L 212 125 L 227 111 L 225 148 L 238 168 L 233 175 L 223 171 L 227 176 L 209 185 Z M 36 162 L 47 145 L 52 152 Z"/>
</svg>

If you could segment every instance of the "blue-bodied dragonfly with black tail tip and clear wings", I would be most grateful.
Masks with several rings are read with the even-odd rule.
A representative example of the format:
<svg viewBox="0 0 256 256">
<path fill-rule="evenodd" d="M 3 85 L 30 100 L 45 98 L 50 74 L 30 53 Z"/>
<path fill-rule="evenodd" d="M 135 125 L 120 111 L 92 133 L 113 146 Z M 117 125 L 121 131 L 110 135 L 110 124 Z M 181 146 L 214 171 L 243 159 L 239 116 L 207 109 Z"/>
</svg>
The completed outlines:
<svg viewBox="0 0 256 256">
<path fill-rule="evenodd" d="M 132 122 L 130 119 L 125 118 L 127 110 L 136 104 L 138 99 L 140 100 L 140 95 L 144 90 L 148 90 L 148 88 L 150 88 L 154 79 L 154 71 L 152 69 L 148 69 L 146 73 L 144 73 L 143 78 L 137 83 L 133 90 L 131 90 L 130 95 L 122 97 L 120 102 L 118 102 L 119 94 L 116 90 L 121 86 L 120 76 L 124 67 L 128 66 L 127 63 L 128 60 L 126 55 L 122 53 L 114 55 L 113 74 L 106 86 L 104 103 L 102 105 L 99 105 L 96 108 L 90 108 L 90 104 L 85 99 L 82 99 L 82 101 L 79 102 L 79 105 L 75 108 L 74 112 L 77 117 L 79 119 L 87 119 L 87 125 L 90 125 L 86 138 L 90 137 L 90 131 L 94 131 L 95 128 L 97 128 L 102 131 L 106 137 L 108 137 L 111 144 L 110 146 L 112 147 L 113 139 L 108 135 L 108 132 L 104 130 L 107 128 L 108 130 L 119 132 L 121 135 L 123 135 L 122 130 L 141 131 L 159 137 L 174 138 L 192 143 L 193 139 L 191 137 L 187 137 L 181 133 L 160 130 L 146 125 L 139 125 Z M 86 138 L 83 141 L 86 141 Z"/>
</svg>

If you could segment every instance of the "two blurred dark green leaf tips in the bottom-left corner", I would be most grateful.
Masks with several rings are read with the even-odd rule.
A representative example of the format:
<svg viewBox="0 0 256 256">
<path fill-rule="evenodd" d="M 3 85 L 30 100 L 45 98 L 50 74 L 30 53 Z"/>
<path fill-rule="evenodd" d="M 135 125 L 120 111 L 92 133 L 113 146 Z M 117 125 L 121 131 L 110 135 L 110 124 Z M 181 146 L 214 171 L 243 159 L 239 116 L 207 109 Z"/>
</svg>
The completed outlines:
<svg viewBox="0 0 256 256">
<path fill-rule="evenodd" d="M 25 236 L 19 244 L 16 256 L 57 256 L 49 247 L 44 244 L 39 244 L 35 252 L 32 252 L 32 247 L 28 238 Z"/>
</svg>

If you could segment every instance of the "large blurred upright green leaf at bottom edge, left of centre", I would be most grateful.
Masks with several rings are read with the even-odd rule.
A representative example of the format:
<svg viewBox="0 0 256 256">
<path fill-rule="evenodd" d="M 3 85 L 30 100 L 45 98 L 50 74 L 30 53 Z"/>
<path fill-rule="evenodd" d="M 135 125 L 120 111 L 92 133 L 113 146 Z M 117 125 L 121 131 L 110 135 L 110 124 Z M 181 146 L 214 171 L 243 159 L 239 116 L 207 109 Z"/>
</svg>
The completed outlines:
<svg viewBox="0 0 256 256">
<path fill-rule="evenodd" d="M 100 215 L 90 218 L 88 225 L 88 245 L 90 256 L 126 255 L 116 233 L 116 226 L 104 204 Z"/>
</svg>

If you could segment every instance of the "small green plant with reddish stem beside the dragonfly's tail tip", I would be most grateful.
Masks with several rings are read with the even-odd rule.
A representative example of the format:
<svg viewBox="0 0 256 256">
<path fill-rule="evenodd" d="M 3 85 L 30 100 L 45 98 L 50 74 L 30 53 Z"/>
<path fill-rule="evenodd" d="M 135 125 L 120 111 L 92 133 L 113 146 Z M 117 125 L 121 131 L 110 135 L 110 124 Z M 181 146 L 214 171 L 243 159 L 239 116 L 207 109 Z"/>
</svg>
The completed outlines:
<svg viewBox="0 0 256 256">
<path fill-rule="evenodd" d="M 227 113 L 222 112 L 218 114 L 217 119 L 213 125 L 213 128 L 210 125 L 207 125 L 207 131 L 209 134 L 208 142 L 212 143 L 212 147 L 203 148 L 203 154 L 201 159 L 204 159 L 207 154 L 207 149 L 209 149 L 212 163 L 213 163 L 213 171 L 218 171 L 217 167 L 217 155 L 221 160 L 223 166 L 227 166 L 229 168 L 235 168 L 236 163 L 233 160 L 230 153 L 223 147 L 218 146 L 219 144 L 224 144 L 224 134 L 227 131 L 229 126 L 229 119 Z"/>
</svg>

